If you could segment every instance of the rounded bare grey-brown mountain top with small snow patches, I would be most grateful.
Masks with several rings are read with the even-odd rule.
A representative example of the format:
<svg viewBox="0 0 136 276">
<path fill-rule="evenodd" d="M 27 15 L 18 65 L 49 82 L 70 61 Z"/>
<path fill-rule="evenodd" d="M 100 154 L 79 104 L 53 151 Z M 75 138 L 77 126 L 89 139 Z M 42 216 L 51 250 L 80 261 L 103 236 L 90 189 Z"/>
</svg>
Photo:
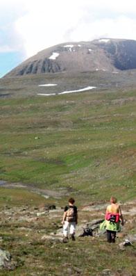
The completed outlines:
<svg viewBox="0 0 136 276">
<path fill-rule="evenodd" d="M 44 49 L 6 74 L 8 77 L 56 72 L 136 69 L 136 41 L 103 38 Z"/>
</svg>

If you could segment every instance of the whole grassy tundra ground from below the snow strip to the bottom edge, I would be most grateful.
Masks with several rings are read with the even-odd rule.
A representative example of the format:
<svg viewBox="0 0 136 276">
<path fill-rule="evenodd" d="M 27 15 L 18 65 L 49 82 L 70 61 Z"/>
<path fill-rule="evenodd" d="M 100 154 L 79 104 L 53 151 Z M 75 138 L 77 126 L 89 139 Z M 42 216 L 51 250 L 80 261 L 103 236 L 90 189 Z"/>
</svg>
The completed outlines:
<svg viewBox="0 0 136 276">
<path fill-rule="evenodd" d="M 119 249 L 124 237 L 136 234 L 135 92 L 1 97 L 0 248 L 9 250 L 12 266 L 0 275 L 135 275 L 135 243 Z M 126 220 L 115 245 L 104 235 L 67 244 L 43 238 L 56 236 L 69 197 L 75 197 L 83 225 L 104 218 L 111 195 Z M 56 210 L 44 213 L 51 204 Z"/>
</svg>

